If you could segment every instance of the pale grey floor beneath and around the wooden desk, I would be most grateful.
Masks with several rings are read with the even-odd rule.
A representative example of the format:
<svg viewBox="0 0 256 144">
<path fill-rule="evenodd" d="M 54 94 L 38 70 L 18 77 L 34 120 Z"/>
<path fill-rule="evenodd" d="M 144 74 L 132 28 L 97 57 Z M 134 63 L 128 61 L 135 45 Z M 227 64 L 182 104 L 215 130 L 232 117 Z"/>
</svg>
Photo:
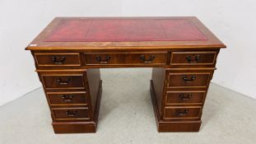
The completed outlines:
<svg viewBox="0 0 256 144">
<path fill-rule="evenodd" d="M 0 107 L 0 143 L 255 143 L 256 100 L 211 84 L 200 132 L 156 131 L 150 68 L 102 69 L 96 133 L 54 134 L 42 88 Z M 8 95 L 7 95 L 8 96 Z"/>
</svg>

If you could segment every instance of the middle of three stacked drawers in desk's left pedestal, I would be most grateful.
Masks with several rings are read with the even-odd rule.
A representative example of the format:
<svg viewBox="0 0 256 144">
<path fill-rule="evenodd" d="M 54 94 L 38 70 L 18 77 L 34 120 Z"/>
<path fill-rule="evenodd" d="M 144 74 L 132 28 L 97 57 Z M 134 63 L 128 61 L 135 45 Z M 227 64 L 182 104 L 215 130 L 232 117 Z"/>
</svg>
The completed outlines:
<svg viewBox="0 0 256 144">
<path fill-rule="evenodd" d="M 50 105 L 87 105 L 86 91 L 47 92 Z"/>
</svg>

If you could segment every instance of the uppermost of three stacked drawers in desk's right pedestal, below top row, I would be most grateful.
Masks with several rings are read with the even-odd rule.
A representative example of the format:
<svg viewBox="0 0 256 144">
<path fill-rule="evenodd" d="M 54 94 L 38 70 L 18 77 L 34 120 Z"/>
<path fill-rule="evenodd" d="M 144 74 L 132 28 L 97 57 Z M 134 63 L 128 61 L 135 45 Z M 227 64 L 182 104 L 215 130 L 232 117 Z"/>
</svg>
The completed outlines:
<svg viewBox="0 0 256 144">
<path fill-rule="evenodd" d="M 207 87 L 211 75 L 211 72 L 169 73 L 168 87 Z"/>
</svg>

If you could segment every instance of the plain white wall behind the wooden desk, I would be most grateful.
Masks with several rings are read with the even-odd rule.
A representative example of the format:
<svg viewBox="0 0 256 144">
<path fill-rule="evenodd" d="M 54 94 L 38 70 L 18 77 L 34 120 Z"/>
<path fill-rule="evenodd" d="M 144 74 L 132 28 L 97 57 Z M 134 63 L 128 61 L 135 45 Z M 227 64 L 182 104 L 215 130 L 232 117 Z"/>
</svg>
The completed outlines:
<svg viewBox="0 0 256 144">
<path fill-rule="evenodd" d="M 256 99 L 254 0 L 0 0 L 0 105 L 41 86 L 25 47 L 55 16 L 198 16 L 226 45 L 213 82 Z"/>
</svg>

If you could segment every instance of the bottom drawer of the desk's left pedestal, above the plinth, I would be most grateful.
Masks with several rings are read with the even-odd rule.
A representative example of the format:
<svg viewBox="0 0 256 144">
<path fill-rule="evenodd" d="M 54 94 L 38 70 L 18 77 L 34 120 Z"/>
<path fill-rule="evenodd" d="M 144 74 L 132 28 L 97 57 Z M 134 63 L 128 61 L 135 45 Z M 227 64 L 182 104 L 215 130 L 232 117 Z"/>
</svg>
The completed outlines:
<svg viewBox="0 0 256 144">
<path fill-rule="evenodd" d="M 90 119 L 88 108 L 54 108 L 52 109 L 55 120 Z"/>
</svg>

